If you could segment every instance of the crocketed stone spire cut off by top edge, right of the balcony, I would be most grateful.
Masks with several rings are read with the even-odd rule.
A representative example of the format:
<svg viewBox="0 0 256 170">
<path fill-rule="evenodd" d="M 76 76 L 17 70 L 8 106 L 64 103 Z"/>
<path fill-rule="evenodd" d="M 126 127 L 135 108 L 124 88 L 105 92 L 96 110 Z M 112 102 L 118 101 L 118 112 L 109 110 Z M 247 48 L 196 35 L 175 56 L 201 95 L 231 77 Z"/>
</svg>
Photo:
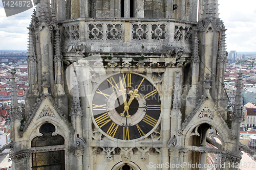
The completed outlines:
<svg viewBox="0 0 256 170">
<path fill-rule="evenodd" d="M 218 0 L 205 0 L 202 18 L 219 18 Z"/>
</svg>

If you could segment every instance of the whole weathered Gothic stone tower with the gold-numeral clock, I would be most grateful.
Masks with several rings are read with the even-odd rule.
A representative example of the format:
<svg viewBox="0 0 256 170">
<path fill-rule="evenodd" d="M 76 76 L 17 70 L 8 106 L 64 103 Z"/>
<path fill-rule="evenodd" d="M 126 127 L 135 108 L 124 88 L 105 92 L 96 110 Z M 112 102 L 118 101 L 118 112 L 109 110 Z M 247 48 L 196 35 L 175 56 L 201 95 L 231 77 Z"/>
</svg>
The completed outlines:
<svg viewBox="0 0 256 170">
<path fill-rule="evenodd" d="M 217 0 L 41 0 L 28 29 L 14 169 L 206 169 L 207 153 L 238 169 Z"/>
</svg>

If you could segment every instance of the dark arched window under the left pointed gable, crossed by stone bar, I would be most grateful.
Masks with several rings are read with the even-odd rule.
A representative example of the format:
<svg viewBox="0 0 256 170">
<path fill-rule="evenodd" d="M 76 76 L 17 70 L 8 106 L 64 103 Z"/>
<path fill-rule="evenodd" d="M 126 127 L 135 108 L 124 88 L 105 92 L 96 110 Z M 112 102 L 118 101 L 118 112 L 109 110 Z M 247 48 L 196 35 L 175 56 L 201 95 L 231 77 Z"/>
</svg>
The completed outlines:
<svg viewBox="0 0 256 170">
<path fill-rule="evenodd" d="M 52 133 L 55 132 L 55 126 L 50 123 L 43 124 L 39 132 L 42 133 L 42 136 L 37 136 L 32 139 L 31 147 L 62 145 L 65 142 L 61 135 L 52 135 Z M 65 170 L 65 151 L 32 153 L 32 169 Z"/>
</svg>

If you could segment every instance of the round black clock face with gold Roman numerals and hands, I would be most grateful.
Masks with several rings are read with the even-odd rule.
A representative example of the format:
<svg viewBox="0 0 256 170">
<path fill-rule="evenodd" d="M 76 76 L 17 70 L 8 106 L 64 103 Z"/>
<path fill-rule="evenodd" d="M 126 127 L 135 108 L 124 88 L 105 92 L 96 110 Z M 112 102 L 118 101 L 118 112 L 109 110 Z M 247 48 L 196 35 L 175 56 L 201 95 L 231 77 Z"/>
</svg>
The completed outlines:
<svg viewBox="0 0 256 170">
<path fill-rule="evenodd" d="M 136 74 L 117 74 L 95 91 L 92 111 L 96 124 L 107 135 L 133 140 L 157 124 L 161 102 L 156 88 Z"/>
</svg>

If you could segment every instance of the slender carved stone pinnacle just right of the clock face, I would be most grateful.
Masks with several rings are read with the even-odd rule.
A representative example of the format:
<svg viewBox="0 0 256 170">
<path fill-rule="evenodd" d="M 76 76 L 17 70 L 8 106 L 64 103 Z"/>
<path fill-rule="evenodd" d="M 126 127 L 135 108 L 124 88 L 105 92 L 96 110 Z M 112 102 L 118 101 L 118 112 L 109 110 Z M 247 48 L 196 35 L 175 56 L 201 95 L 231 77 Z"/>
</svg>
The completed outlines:
<svg viewBox="0 0 256 170">
<path fill-rule="evenodd" d="M 173 108 L 180 110 L 180 100 L 181 100 L 181 94 L 180 94 L 180 76 L 179 73 L 180 71 L 175 71 L 176 72 L 176 80 L 175 80 L 175 89 L 174 89 L 174 103 L 173 103 Z"/>
</svg>

